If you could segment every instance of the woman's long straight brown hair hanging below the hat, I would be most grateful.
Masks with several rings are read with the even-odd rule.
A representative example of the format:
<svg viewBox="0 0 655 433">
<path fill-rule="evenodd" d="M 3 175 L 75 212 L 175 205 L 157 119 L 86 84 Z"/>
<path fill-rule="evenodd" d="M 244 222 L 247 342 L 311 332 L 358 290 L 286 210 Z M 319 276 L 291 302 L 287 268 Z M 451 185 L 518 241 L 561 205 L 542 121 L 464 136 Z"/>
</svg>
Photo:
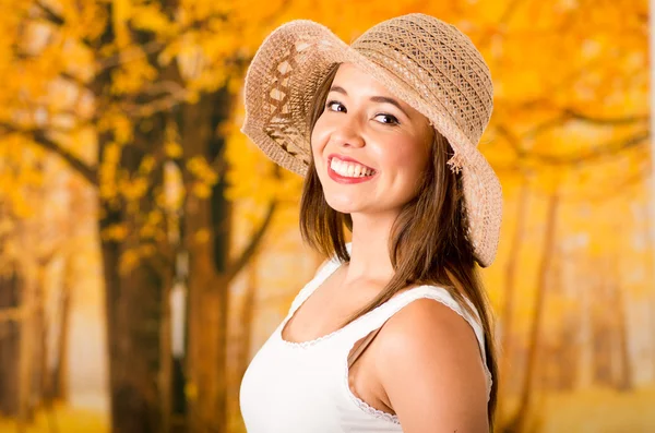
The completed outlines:
<svg viewBox="0 0 655 433">
<path fill-rule="evenodd" d="M 313 129 L 336 75 L 334 64 L 314 94 L 310 116 Z M 391 230 L 389 252 L 395 274 L 376 299 L 353 314 L 344 326 L 391 299 L 410 285 L 437 285 L 449 292 L 473 313 L 464 298 L 476 308 L 485 333 L 486 363 L 493 383 L 487 406 L 489 428 L 498 399 L 498 365 L 492 333 L 492 313 L 486 291 L 478 276 L 473 246 L 467 239 L 467 220 L 463 203 L 462 177 L 446 166 L 453 151 L 448 141 L 434 133 L 430 151 L 432 164 L 420 179 L 417 196 L 407 203 Z M 349 262 L 344 225 L 352 232 L 353 219 L 326 203 L 313 157 L 305 178 L 300 203 L 300 233 L 302 239 L 326 257 L 336 256 Z M 475 315 L 474 315 L 475 316 Z"/>
</svg>

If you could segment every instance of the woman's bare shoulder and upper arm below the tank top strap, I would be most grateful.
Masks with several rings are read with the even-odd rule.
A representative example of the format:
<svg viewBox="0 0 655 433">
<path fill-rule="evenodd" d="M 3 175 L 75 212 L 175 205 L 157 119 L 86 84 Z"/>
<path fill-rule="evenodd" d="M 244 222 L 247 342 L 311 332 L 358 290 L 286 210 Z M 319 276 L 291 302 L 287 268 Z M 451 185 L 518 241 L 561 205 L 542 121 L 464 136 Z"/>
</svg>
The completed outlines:
<svg viewBox="0 0 655 433">
<path fill-rule="evenodd" d="M 484 363 L 461 315 L 419 299 L 380 336 L 376 373 L 405 433 L 489 432 Z"/>
</svg>

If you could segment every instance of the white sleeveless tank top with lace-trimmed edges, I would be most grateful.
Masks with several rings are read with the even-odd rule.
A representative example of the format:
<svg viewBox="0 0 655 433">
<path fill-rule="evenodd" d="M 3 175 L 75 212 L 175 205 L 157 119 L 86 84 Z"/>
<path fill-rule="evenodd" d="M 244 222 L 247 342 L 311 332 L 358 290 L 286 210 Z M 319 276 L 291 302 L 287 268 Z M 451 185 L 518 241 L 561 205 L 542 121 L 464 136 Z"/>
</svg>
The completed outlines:
<svg viewBox="0 0 655 433">
<path fill-rule="evenodd" d="M 346 245 L 350 251 L 350 244 Z M 377 410 L 353 394 L 347 358 L 355 342 L 416 299 L 433 299 L 462 315 L 473 327 L 485 360 L 485 336 L 477 317 L 471 317 L 445 289 L 437 286 L 404 291 L 345 327 L 314 340 L 284 340 L 285 324 L 340 265 L 336 257 L 332 258 L 300 290 L 285 320 L 248 366 L 239 395 L 248 433 L 402 433 L 396 416 Z M 489 396 L 491 374 L 486 363 L 485 372 Z"/>
</svg>

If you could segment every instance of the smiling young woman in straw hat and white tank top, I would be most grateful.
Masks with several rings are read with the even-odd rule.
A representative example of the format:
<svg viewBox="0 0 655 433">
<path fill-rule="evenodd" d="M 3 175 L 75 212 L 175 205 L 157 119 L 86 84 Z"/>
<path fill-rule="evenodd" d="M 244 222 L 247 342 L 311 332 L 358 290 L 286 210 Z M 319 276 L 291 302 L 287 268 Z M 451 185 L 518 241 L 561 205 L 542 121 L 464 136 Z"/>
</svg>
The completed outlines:
<svg viewBox="0 0 655 433">
<path fill-rule="evenodd" d="M 422 14 L 352 46 L 291 22 L 255 55 L 246 109 L 243 132 L 305 176 L 300 231 L 329 257 L 246 372 L 248 432 L 491 430 L 476 262 L 495 258 L 502 195 L 476 148 L 492 87 L 471 40 Z"/>
</svg>

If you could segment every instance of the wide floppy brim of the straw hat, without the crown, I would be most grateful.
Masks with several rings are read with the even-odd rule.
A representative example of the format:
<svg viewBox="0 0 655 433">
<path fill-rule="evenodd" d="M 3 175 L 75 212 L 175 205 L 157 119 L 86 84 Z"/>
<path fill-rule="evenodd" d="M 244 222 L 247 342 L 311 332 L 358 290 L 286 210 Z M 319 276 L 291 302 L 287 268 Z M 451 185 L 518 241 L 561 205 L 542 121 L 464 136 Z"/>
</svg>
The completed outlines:
<svg viewBox="0 0 655 433">
<path fill-rule="evenodd" d="M 444 116 L 439 103 L 424 100 L 402 79 L 378 67 L 327 27 L 312 21 L 293 21 L 277 27 L 262 43 L 246 75 L 241 132 L 273 161 L 306 176 L 311 158 L 308 121 L 312 97 L 335 63 L 354 63 L 366 71 L 424 115 L 449 141 L 462 169 L 468 239 L 479 265 L 489 266 L 498 248 L 502 190 L 487 159 Z"/>
</svg>

